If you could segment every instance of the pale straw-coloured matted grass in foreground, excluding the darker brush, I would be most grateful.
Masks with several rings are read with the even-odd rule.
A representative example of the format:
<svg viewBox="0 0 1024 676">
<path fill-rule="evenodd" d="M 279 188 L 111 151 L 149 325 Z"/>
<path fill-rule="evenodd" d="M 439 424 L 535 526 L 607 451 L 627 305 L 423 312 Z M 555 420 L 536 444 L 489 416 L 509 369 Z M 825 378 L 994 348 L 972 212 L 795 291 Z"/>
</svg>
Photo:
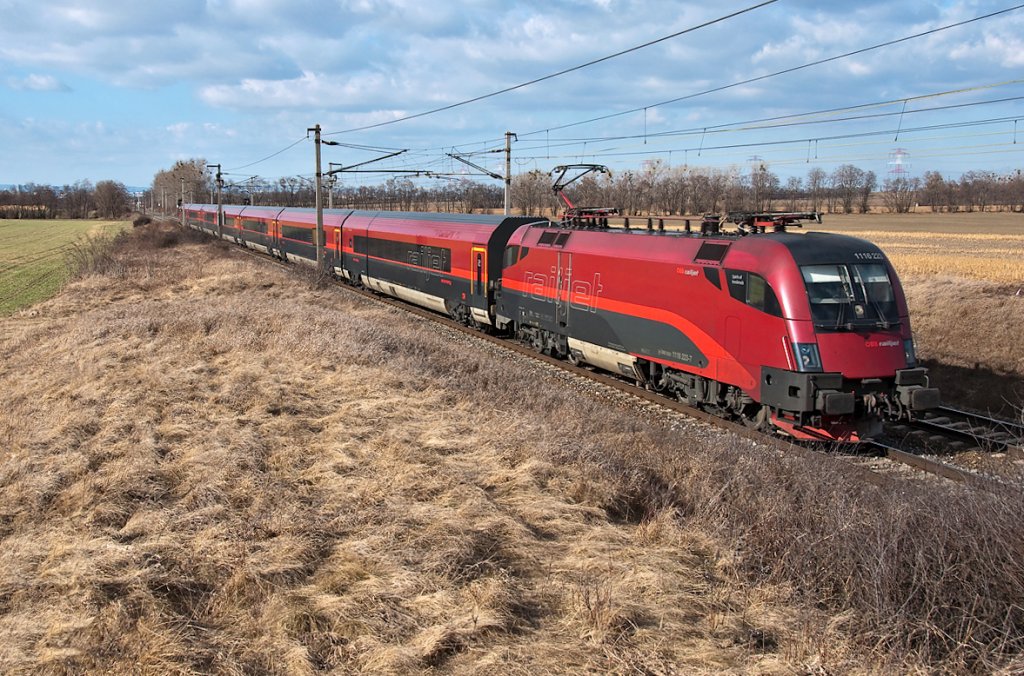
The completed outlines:
<svg viewBox="0 0 1024 676">
<path fill-rule="evenodd" d="M 164 238 L 3 326 L 0 670 L 817 660 L 749 640 L 802 615 L 762 608 L 713 540 L 609 521 L 610 479 L 555 460 L 620 445 L 625 414 L 539 422 L 536 383 L 426 323 Z"/>
</svg>

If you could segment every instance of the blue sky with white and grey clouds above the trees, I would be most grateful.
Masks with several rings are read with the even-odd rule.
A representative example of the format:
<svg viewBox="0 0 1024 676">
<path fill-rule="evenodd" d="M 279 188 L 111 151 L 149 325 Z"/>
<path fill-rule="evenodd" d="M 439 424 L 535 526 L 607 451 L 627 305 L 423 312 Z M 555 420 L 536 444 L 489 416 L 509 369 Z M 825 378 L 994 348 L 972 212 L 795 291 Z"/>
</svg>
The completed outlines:
<svg viewBox="0 0 1024 676">
<path fill-rule="evenodd" d="M 761 3 L 0 0 L 0 183 L 311 175 L 315 124 L 325 165 L 440 173 L 502 171 L 506 131 L 514 172 L 1024 168 L 1024 7 Z"/>
</svg>

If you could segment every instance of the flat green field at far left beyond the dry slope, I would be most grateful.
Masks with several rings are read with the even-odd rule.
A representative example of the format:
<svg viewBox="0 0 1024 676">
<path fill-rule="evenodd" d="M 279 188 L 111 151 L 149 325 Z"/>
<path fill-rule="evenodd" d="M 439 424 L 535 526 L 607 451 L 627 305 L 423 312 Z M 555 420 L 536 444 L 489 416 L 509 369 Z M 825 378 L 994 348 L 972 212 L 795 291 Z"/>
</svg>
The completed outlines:
<svg viewBox="0 0 1024 676">
<path fill-rule="evenodd" d="M 0 316 L 56 293 L 68 279 L 67 252 L 87 236 L 114 235 L 126 221 L 0 219 Z"/>
</svg>

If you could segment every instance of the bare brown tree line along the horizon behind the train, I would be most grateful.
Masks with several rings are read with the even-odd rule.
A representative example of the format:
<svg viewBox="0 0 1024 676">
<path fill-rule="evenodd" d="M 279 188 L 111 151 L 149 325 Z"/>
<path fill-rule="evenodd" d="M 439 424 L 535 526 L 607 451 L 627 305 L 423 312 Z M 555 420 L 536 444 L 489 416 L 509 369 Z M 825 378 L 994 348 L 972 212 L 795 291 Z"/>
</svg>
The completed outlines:
<svg viewBox="0 0 1024 676">
<path fill-rule="evenodd" d="M 562 205 L 552 192 L 551 176 L 535 169 L 512 178 L 512 207 L 517 213 L 557 213 Z M 688 215 L 728 211 L 822 211 L 826 213 L 906 213 L 921 207 L 933 212 L 1024 212 L 1024 177 L 970 171 L 958 179 L 927 171 L 922 177 L 890 175 L 880 182 L 872 171 L 844 164 L 831 172 L 812 167 L 806 176 L 784 182 L 767 165 L 726 169 L 672 167 L 647 162 L 614 175 L 588 174 L 572 183 L 566 197 L 580 206 L 617 208 L 625 215 Z M 119 218 L 131 210 L 173 213 L 181 201 L 215 203 L 217 186 L 202 159 L 182 160 L 156 174 L 152 186 L 136 200 L 123 183 L 95 185 L 79 181 L 63 187 L 19 185 L 0 189 L 0 218 Z M 313 181 L 304 176 L 275 180 L 252 177 L 225 181 L 227 203 L 312 207 Z M 329 181 L 324 205 L 386 211 L 493 211 L 504 205 L 504 188 L 470 178 L 423 184 L 388 178 L 377 185 Z"/>
</svg>

